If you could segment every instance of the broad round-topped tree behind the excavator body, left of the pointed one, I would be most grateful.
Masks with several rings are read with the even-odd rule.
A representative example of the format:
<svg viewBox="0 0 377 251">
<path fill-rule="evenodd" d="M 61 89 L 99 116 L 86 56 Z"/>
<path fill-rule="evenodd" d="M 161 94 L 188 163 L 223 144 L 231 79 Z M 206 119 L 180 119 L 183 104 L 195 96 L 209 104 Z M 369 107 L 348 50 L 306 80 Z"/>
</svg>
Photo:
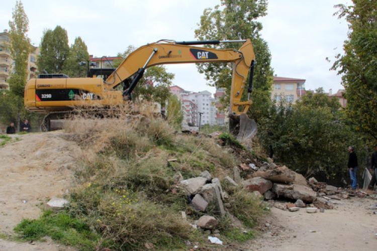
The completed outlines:
<svg viewBox="0 0 377 251">
<path fill-rule="evenodd" d="M 63 73 L 63 65 L 69 55 L 67 31 L 60 26 L 43 33 L 37 65 L 40 72 Z"/>
</svg>

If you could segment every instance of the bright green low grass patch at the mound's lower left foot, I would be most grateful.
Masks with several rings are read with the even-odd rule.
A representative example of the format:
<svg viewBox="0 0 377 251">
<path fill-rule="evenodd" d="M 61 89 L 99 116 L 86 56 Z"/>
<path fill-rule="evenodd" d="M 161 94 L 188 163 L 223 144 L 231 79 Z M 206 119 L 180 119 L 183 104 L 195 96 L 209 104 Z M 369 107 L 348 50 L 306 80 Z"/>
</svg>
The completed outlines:
<svg viewBox="0 0 377 251">
<path fill-rule="evenodd" d="M 41 240 L 50 236 L 65 245 L 80 247 L 81 250 L 93 250 L 100 235 L 90 230 L 89 226 L 66 212 L 45 211 L 39 219 L 24 219 L 15 227 L 15 232 L 23 240 Z"/>
</svg>

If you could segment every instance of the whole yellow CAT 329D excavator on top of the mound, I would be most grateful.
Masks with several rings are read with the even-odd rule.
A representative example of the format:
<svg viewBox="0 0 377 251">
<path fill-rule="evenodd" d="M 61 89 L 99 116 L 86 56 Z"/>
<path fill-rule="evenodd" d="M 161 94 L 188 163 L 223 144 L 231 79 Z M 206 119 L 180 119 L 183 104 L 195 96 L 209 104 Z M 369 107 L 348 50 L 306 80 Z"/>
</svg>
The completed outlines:
<svg viewBox="0 0 377 251">
<path fill-rule="evenodd" d="M 238 50 L 198 46 L 237 42 L 243 43 Z M 89 69 L 86 78 L 69 78 L 65 74 L 39 74 L 37 78 L 30 79 L 25 86 L 25 107 L 33 112 L 47 113 L 41 129 L 49 131 L 54 128 L 53 123 L 57 119 L 64 118 L 75 107 L 106 109 L 128 103 L 132 91 L 146 68 L 150 66 L 214 62 L 233 63 L 230 131 L 238 139 L 253 136 L 256 133 L 256 124 L 246 115 L 252 103 L 250 94 L 255 64 L 250 39 L 182 42 L 160 40 L 136 49 L 115 70 Z M 248 98 L 241 101 L 248 75 Z M 120 88 L 120 85 L 123 85 L 123 88 Z"/>
</svg>

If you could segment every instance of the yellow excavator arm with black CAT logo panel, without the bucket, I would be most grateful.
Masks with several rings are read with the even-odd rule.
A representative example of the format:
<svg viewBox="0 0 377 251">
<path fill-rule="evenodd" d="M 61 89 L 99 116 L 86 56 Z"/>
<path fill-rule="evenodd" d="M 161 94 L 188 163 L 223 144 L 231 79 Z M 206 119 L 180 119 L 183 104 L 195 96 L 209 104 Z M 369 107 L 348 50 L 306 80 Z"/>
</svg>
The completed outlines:
<svg viewBox="0 0 377 251">
<path fill-rule="evenodd" d="M 156 42 L 142 46 L 132 52 L 118 68 L 106 79 L 105 89 L 111 90 L 122 81 L 132 81 L 125 90 L 124 95 L 130 95 L 137 82 L 142 77 L 145 69 L 154 65 L 183 64 L 183 63 L 207 63 L 207 62 L 232 62 L 233 74 L 230 96 L 230 115 L 239 116 L 246 113 L 252 101 L 241 101 L 241 96 L 250 71 L 249 86 L 247 91 L 252 91 L 252 71 L 255 55 L 250 39 L 244 40 L 239 50 L 202 48 L 193 45 L 219 44 L 221 42 L 240 41 L 193 41 L 193 42 Z"/>
</svg>

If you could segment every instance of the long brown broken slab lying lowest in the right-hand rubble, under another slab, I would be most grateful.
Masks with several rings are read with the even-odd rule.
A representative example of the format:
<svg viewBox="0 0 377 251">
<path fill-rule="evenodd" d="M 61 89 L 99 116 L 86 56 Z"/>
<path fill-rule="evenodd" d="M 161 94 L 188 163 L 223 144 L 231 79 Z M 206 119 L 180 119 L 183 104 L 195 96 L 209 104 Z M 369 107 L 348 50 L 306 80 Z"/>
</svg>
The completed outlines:
<svg viewBox="0 0 377 251">
<path fill-rule="evenodd" d="M 286 197 L 289 199 L 301 199 L 307 202 L 313 202 L 317 193 L 310 189 L 309 187 L 302 185 L 284 185 L 284 184 L 273 184 L 273 191 L 276 195 Z"/>
</svg>

